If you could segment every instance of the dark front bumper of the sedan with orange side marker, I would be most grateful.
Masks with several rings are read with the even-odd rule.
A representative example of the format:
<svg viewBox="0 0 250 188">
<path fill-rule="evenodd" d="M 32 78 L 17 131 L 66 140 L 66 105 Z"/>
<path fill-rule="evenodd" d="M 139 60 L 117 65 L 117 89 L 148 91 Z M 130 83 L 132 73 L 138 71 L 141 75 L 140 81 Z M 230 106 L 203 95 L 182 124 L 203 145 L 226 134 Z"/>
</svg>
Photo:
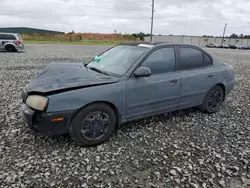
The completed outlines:
<svg viewBox="0 0 250 188">
<path fill-rule="evenodd" d="M 27 126 L 37 135 L 52 136 L 68 133 L 68 126 L 75 111 L 64 112 L 38 112 L 32 110 L 28 105 L 22 105 L 23 117 Z M 54 118 L 64 119 L 52 122 Z"/>
</svg>

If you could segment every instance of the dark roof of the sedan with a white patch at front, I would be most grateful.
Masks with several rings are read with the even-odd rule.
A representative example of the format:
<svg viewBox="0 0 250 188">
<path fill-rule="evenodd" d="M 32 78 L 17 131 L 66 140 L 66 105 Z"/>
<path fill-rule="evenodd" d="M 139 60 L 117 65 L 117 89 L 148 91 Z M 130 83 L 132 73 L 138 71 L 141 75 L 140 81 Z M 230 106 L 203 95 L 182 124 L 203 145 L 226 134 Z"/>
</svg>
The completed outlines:
<svg viewBox="0 0 250 188">
<path fill-rule="evenodd" d="M 146 48 L 153 48 L 158 46 L 194 46 L 192 44 L 185 44 L 185 43 L 172 43 L 172 42 L 125 42 L 119 45 L 128 45 L 128 46 L 139 46 L 139 47 L 146 47 Z"/>
</svg>

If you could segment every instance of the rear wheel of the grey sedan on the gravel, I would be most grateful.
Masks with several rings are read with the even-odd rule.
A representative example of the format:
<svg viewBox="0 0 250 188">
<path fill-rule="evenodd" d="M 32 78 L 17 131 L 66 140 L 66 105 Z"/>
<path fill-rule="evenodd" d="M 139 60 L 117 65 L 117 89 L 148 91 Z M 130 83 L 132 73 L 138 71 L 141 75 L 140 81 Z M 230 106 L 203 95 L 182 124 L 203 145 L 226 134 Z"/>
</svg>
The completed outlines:
<svg viewBox="0 0 250 188">
<path fill-rule="evenodd" d="M 201 112 L 206 114 L 216 113 L 223 103 L 224 95 L 224 91 L 219 85 L 211 88 L 208 91 L 202 105 L 199 107 Z M 213 102 L 211 102 L 212 99 L 214 100 Z"/>
</svg>

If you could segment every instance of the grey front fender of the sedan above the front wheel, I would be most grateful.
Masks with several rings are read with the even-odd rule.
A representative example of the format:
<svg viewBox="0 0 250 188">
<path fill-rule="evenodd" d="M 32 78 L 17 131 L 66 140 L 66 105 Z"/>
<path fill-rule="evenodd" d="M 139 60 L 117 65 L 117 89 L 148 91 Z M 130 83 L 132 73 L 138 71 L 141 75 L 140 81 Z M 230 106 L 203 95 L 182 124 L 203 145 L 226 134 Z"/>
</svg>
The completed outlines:
<svg viewBox="0 0 250 188">
<path fill-rule="evenodd" d="M 78 110 L 93 102 L 109 102 L 124 115 L 125 110 L 125 82 L 87 87 L 48 96 L 47 112 Z"/>
</svg>

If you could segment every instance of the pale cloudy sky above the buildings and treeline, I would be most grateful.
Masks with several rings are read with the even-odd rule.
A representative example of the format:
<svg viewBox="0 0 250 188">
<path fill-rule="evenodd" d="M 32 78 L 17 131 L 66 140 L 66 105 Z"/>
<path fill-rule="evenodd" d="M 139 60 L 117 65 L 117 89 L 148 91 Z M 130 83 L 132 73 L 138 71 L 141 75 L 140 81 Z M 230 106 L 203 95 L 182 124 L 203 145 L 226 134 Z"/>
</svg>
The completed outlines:
<svg viewBox="0 0 250 188">
<path fill-rule="evenodd" d="M 152 0 L 0 0 L 0 27 L 150 33 Z M 250 35 L 249 0 L 155 0 L 153 34 Z"/>
</svg>

